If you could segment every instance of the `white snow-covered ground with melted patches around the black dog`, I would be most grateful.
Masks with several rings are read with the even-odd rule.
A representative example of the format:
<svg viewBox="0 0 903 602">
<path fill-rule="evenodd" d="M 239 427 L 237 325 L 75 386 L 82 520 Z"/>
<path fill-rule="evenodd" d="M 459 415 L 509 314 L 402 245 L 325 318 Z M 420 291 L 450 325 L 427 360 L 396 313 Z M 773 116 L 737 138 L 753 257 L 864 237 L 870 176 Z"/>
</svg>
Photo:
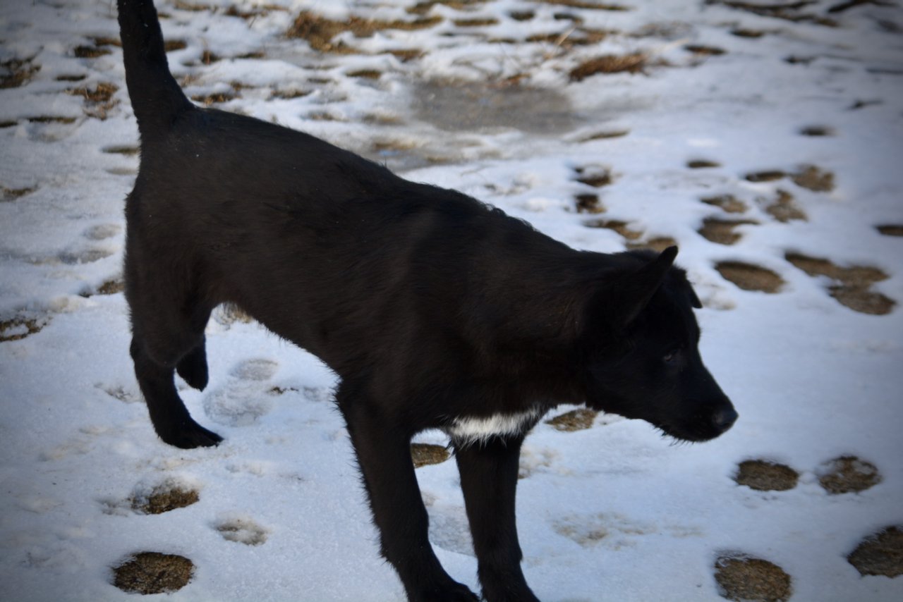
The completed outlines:
<svg viewBox="0 0 903 602">
<path fill-rule="evenodd" d="M 573 432 L 540 423 L 518 491 L 538 597 L 720 600 L 715 561 L 731 552 L 786 570 L 794 600 L 903 599 L 903 578 L 861 577 L 846 560 L 863 538 L 903 524 L 903 11 L 828 13 L 840 0 L 764 14 L 699 0 L 624 0 L 622 11 L 561 0 L 201 1 L 158 2 L 164 35 L 183 42 L 172 69 L 199 102 L 463 190 L 578 248 L 680 245 L 706 306 L 703 357 L 740 420 L 693 446 L 616 416 Z M 405 10 L 414 5 L 420 14 Z M 327 38 L 338 51 L 321 52 L 285 36 L 305 9 L 336 22 L 429 21 L 338 32 Z M 219 311 L 209 388 L 182 395 L 226 440 L 183 451 L 155 437 L 116 286 L 137 168 L 117 35 L 112 0 L 0 5 L 0 599 L 125 599 L 111 567 L 140 551 L 196 567 L 188 586 L 148 599 L 403 599 L 377 554 L 333 377 L 316 358 Z M 642 71 L 570 75 L 635 53 Z M 781 173 L 747 178 L 764 171 Z M 743 210 L 702 201 L 726 195 L 742 205 L 725 207 Z M 578 196 L 604 211 L 578 211 Z M 731 225 L 712 219 L 745 221 L 740 239 L 724 244 L 731 236 L 711 228 Z M 783 284 L 742 290 L 722 262 L 767 268 Z M 838 266 L 886 274 L 867 275 L 858 293 L 869 285 L 867 304 L 897 306 L 842 305 L 830 287 L 852 276 Z M 417 440 L 446 442 L 439 432 Z M 873 464 L 880 483 L 828 494 L 818 477 L 841 456 Z M 786 464 L 799 481 L 738 485 L 748 459 Z M 440 559 L 476 589 L 453 464 L 417 474 Z M 132 509 L 173 484 L 199 501 Z M 256 545 L 231 541 L 243 537 Z"/>
</svg>

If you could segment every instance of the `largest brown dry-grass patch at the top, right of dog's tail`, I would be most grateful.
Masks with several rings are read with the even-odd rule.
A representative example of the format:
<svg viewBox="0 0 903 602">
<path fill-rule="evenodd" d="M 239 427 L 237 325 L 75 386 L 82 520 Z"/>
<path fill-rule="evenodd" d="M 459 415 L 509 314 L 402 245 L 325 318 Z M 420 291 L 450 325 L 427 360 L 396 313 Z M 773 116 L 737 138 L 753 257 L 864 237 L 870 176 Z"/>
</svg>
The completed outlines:
<svg viewBox="0 0 903 602">
<path fill-rule="evenodd" d="M 345 21 L 332 21 L 319 14 L 310 11 L 302 11 L 289 28 L 287 35 L 290 38 L 302 38 L 311 48 L 321 52 L 356 52 L 344 42 L 332 43 L 332 38 L 340 32 L 352 32 L 358 38 L 368 37 L 374 32 L 386 29 L 399 29 L 405 31 L 426 29 L 440 23 L 442 17 L 425 17 L 414 21 L 379 21 L 377 19 L 364 19 L 355 15 Z"/>
</svg>

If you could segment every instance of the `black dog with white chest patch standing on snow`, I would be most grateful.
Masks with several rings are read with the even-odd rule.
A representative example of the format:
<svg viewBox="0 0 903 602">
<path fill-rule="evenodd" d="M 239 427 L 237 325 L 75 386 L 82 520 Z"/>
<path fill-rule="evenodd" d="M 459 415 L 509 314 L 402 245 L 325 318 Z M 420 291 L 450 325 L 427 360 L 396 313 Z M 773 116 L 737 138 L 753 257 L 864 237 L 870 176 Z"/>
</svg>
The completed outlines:
<svg viewBox="0 0 903 602">
<path fill-rule="evenodd" d="M 204 327 L 235 303 L 340 377 L 382 553 L 408 598 L 477 599 L 427 538 L 410 441 L 436 428 L 456 452 L 483 596 L 528 602 L 517 458 L 545 412 L 586 403 L 691 441 L 737 418 L 699 357 L 700 303 L 676 247 L 575 251 L 310 135 L 194 107 L 151 0 L 118 7 L 141 134 L 126 201 L 131 353 L 165 442 L 220 441 L 191 419 L 173 371 L 207 384 Z"/>
</svg>

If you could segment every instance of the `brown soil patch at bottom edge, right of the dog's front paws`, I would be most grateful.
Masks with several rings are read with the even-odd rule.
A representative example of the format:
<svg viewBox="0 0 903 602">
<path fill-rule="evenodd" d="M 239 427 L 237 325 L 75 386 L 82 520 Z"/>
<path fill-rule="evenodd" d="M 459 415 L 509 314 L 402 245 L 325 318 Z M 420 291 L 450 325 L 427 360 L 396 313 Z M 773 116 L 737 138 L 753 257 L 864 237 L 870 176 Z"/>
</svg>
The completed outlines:
<svg viewBox="0 0 903 602">
<path fill-rule="evenodd" d="M 783 602 L 793 588 L 783 569 L 745 555 L 721 556 L 715 560 L 715 581 L 721 597 L 745 602 Z"/>
</svg>

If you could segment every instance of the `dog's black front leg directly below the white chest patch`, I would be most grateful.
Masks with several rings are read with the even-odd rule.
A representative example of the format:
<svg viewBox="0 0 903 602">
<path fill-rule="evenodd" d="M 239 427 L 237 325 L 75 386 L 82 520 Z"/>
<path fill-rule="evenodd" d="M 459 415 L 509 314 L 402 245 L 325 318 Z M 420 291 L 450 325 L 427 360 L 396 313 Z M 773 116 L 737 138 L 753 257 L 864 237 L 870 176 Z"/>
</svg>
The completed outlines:
<svg viewBox="0 0 903 602">
<path fill-rule="evenodd" d="M 539 602 L 520 570 L 515 492 L 522 436 L 455 445 L 464 505 L 489 602 Z"/>
</svg>

